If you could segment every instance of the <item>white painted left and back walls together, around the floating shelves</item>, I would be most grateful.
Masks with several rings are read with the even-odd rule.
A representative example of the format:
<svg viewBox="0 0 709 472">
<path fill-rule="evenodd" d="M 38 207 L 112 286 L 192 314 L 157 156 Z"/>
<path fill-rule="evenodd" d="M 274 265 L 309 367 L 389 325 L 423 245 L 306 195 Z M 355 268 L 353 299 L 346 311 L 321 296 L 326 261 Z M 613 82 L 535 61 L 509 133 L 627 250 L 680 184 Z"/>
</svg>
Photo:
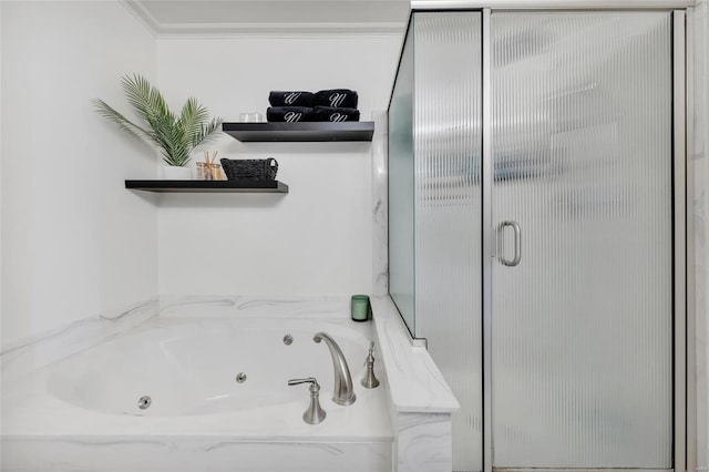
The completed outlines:
<svg viewBox="0 0 709 472">
<path fill-rule="evenodd" d="M 153 79 L 236 121 L 269 90 L 351 88 L 361 120 L 384 110 L 401 38 L 155 40 L 117 1 L 1 1 L 2 342 L 112 312 L 156 294 L 370 293 L 370 143 L 243 144 L 274 156 L 288 195 L 163 195 L 143 143 L 93 112 L 127 105 L 120 76 Z"/>
</svg>

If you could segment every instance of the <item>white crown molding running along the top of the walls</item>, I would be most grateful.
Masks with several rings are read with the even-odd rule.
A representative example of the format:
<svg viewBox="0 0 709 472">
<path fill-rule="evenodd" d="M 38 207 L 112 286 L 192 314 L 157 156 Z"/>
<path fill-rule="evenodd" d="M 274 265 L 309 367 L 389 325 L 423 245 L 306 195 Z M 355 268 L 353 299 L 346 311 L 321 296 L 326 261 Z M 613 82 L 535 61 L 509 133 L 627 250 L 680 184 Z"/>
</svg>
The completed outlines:
<svg viewBox="0 0 709 472">
<path fill-rule="evenodd" d="M 140 1 L 120 0 L 157 39 L 179 38 L 299 38 L 299 37 L 400 37 L 405 22 L 312 23 L 163 23 Z"/>
</svg>

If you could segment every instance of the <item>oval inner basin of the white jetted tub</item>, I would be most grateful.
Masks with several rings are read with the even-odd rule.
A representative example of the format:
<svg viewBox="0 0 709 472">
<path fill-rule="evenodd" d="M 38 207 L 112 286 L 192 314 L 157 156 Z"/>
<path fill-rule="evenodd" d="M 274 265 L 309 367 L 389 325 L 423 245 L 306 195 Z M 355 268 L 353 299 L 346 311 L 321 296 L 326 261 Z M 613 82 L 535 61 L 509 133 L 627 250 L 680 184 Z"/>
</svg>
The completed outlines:
<svg viewBox="0 0 709 472">
<path fill-rule="evenodd" d="M 315 377 L 332 396 L 332 365 L 317 331 L 331 335 L 363 372 L 368 339 L 350 327 L 322 321 L 263 319 L 163 321 L 78 353 L 51 369 L 50 394 L 103 413 L 133 415 L 217 414 L 302 402 L 306 387 L 292 378 Z M 290 343 L 284 342 L 289 337 Z M 240 376 L 242 382 L 236 377 Z M 245 378 L 245 380 L 244 380 Z M 138 408 L 138 399 L 152 402 Z"/>
</svg>

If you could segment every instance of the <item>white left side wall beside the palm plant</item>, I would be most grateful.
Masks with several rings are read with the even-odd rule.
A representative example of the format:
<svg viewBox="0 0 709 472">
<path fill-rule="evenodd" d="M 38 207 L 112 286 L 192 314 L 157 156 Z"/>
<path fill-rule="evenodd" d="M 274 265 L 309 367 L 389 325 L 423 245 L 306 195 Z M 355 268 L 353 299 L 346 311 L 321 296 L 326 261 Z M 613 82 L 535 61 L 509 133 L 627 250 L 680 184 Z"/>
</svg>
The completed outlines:
<svg viewBox="0 0 709 472">
<path fill-rule="evenodd" d="M 157 293 L 155 205 L 124 187 L 154 152 L 103 122 L 155 39 L 117 1 L 0 2 L 2 342 Z"/>
</svg>

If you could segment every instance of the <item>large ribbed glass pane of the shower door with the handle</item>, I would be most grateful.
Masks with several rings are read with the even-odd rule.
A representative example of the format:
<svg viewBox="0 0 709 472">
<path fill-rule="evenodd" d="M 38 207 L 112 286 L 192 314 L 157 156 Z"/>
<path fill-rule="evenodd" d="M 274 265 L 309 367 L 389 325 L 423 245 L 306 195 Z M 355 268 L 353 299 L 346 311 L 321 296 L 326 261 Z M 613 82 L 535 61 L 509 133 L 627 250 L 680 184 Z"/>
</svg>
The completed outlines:
<svg viewBox="0 0 709 472">
<path fill-rule="evenodd" d="M 669 13 L 491 32 L 494 465 L 671 468 Z"/>
</svg>

